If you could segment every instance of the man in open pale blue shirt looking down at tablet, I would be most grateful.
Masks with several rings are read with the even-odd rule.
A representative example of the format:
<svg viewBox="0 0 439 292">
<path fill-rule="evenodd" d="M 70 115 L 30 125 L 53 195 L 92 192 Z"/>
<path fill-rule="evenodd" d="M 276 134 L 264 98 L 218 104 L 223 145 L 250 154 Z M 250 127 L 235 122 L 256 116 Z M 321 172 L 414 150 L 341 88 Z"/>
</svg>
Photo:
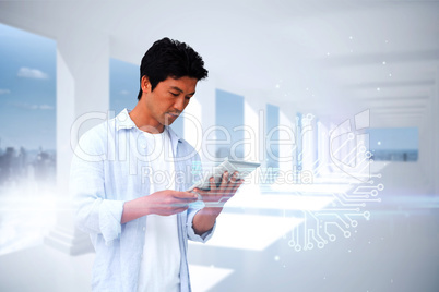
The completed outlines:
<svg viewBox="0 0 439 292">
<path fill-rule="evenodd" d="M 81 137 L 71 190 L 76 226 L 96 251 L 93 291 L 191 290 L 187 240 L 209 240 L 222 211 L 202 202 L 225 202 L 241 184 L 224 173 L 210 191 L 185 192 L 199 179 L 200 158 L 169 125 L 207 76 L 203 66 L 186 44 L 156 41 L 142 59 L 134 109 Z"/>
</svg>

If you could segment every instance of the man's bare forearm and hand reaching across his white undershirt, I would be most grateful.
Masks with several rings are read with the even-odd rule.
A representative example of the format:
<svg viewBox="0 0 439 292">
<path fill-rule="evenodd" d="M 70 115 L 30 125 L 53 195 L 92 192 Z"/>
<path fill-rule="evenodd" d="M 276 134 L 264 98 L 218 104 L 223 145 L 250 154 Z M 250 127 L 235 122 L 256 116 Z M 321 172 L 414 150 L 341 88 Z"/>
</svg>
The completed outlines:
<svg viewBox="0 0 439 292">
<path fill-rule="evenodd" d="M 145 215 L 169 216 L 182 212 L 198 200 L 197 194 L 165 190 L 123 204 L 120 223 L 127 223 Z"/>
</svg>

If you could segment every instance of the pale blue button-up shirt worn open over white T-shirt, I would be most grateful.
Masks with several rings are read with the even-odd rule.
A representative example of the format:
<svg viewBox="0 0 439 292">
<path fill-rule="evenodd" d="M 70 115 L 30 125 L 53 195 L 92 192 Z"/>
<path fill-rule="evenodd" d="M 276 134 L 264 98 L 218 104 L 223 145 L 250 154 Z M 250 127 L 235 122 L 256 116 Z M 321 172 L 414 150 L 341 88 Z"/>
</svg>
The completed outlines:
<svg viewBox="0 0 439 292">
<path fill-rule="evenodd" d="M 165 126 L 175 156 L 176 191 L 188 190 L 201 179 L 200 157 L 173 129 Z M 145 245 L 145 217 L 120 223 L 123 204 L 150 194 L 146 137 L 127 109 L 84 133 L 75 148 L 70 192 L 75 204 L 76 227 L 87 232 L 96 250 L 92 291 L 137 291 Z M 200 202 L 198 202 L 200 203 Z M 180 289 L 189 292 L 188 240 L 206 242 L 213 230 L 195 234 L 192 220 L 203 206 L 191 204 L 177 214 L 180 247 Z"/>
</svg>

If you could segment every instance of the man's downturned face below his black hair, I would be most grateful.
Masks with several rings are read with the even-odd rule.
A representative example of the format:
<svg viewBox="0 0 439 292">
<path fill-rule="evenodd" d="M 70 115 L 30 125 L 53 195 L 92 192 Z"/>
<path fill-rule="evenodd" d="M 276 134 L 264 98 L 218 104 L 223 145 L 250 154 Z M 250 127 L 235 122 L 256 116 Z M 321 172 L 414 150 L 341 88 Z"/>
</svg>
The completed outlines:
<svg viewBox="0 0 439 292">
<path fill-rule="evenodd" d="M 164 125 L 174 123 L 195 94 L 197 82 L 197 78 L 188 76 L 177 80 L 167 77 L 151 90 L 151 84 L 143 76 L 140 102 L 145 102 L 144 118 L 149 120 L 149 125 L 162 130 Z"/>
</svg>

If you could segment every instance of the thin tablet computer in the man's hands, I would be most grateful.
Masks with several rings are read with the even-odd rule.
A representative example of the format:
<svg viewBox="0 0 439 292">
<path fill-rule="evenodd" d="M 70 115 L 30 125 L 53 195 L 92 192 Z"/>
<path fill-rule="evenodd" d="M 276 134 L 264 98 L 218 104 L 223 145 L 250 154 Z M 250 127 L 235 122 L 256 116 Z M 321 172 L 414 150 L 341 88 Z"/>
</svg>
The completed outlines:
<svg viewBox="0 0 439 292">
<path fill-rule="evenodd" d="M 188 192 L 193 191 L 195 187 L 209 191 L 211 188 L 211 183 L 209 180 L 213 177 L 215 179 L 215 183 L 220 184 L 225 171 L 228 171 L 230 177 L 235 171 L 238 171 L 238 179 L 244 180 L 260 165 L 261 163 L 257 162 L 226 159 L 220 166 L 214 167 L 212 171 L 205 172 L 200 181 L 195 182 L 191 187 L 189 187 Z"/>
</svg>

